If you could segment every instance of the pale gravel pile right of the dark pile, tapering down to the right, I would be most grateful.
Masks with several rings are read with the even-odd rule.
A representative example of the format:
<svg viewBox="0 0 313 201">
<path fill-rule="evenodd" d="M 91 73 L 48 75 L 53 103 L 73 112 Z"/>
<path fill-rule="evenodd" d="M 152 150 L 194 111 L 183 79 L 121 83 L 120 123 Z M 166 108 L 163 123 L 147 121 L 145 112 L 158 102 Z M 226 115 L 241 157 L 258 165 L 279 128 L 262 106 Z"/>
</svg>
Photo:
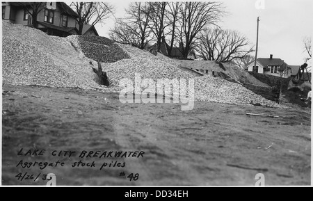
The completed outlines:
<svg viewBox="0 0 313 201">
<path fill-rule="evenodd" d="M 118 86 L 120 79 L 134 79 L 135 73 L 141 73 L 141 77 L 150 79 L 191 79 L 195 78 L 188 72 L 180 70 L 175 60 L 158 54 L 154 56 L 146 51 L 120 45 L 131 56 L 116 63 L 102 63 L 112 86 Z M 211 75 L 195 78 L 195 99 L 203 102 L 218 102 L 226 104 L 262 104 L 262 106 L 280 107 L 264 97 L 252 93 L 252 91 L 225 79 L 215 78 Z"/>
</svg>

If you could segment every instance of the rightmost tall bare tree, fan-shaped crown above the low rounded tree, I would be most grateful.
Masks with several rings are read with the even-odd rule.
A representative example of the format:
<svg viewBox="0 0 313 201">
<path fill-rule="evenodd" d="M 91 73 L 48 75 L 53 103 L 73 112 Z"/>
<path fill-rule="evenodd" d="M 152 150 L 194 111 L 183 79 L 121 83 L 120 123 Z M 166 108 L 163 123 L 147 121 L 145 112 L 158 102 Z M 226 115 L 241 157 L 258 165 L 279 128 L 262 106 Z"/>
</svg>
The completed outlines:
<svg viewBox="0 0 313 201">
<path fill-rule="evenodd" d="M 181 19 L 179 23 L 179 37 L 183 58 L 187 58 L 193 48 L 195 37 L 202 29 L 220 22 L 223 16 L 223 3 L 216 2 L 183 2 L 179 7 Z"/>
</svg>

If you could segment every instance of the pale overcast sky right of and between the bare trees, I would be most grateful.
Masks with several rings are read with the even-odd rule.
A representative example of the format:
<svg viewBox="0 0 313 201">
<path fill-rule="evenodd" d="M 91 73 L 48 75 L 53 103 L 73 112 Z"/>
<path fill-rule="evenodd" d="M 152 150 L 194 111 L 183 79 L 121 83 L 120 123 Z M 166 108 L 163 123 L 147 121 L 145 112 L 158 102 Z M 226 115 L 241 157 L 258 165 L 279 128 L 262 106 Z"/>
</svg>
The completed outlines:
<svg viewBox="0 0 313 201">
<path fill-rule="evenodd" d="M 302 65 L 306 54 L 303 38 L 313 33 L 312 0 L 220 0 L 224 3 L 228 15 L 223 17 L 220 26 L 234 29 L 256 43 L 257 17 L 259 16 L 259 51 L 258 58 L 281 58 L 289 65 Z M 115 17 L 123 17 L 125 8 L 131 1 L 111 1 L 116 8 Z M 114 18 L 103 26 L 97 25 L 99 35 L 108 37 L 109 29 L 114 26 Z"/>
</svg>

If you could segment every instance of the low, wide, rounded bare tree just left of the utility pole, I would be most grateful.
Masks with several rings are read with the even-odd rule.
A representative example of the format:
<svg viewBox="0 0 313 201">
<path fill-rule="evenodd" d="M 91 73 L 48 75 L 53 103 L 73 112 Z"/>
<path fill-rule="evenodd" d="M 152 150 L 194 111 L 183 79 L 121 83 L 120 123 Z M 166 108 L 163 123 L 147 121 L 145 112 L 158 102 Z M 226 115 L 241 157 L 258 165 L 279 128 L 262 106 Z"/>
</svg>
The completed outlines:
<svg viewBox="0 0 313 201">
<path fill-rule="evenodd" d="M 236 31 L 205 29 L 198 37 L 196 48 L 209 61 L 221 63 L 244 61 L 254 51 L 248 39 Z"/>
</svg>

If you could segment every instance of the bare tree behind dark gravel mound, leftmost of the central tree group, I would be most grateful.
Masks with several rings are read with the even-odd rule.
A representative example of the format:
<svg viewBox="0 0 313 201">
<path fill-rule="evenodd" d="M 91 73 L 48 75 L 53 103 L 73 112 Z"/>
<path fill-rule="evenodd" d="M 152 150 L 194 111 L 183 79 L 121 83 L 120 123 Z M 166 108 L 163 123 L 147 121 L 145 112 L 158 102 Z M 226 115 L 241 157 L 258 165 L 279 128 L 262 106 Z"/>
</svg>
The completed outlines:
<svg viewBox="0 0 313 201">
<path fill-rule="evenodd" d="M 152 40 L 152 31 L 149 28 L 150 12 L 149 3 L 131 3 L 126 10 L 125 19 L 118 19 L 115 28 L 110 30 L 111 39 L 144 49 Z"/>
</svg>

